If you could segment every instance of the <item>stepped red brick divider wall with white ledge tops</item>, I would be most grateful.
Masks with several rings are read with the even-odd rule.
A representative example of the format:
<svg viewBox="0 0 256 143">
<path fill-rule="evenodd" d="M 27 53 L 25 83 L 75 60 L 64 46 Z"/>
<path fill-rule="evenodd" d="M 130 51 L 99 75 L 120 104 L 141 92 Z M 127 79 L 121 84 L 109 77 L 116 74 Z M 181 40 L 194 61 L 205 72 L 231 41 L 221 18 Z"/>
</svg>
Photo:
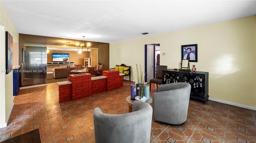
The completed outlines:
<svg viewBox="0 0 256 143">
<path fill-rule="evenodd" d="M 69 81 L 57 82 L 59 102 L 74 101 L 124 86 L 124 76 L 120 76 L 119 71 L 103 71 L 102 74 L 95 77 L 88 73 L 70 74 Z"/>
</svg>

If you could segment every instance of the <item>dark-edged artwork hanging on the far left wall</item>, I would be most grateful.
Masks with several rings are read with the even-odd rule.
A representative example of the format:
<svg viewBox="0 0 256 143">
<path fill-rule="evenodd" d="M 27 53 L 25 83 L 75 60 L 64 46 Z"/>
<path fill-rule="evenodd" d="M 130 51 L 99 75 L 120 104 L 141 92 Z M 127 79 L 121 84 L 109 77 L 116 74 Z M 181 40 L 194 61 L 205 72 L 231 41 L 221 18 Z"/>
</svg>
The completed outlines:
<svg viewBox="0 0 256 143">
<path fill-rule="evenodd" d="M 6 74 L 12 71 L 12 35 L 6 31 Z"/>
</svg>

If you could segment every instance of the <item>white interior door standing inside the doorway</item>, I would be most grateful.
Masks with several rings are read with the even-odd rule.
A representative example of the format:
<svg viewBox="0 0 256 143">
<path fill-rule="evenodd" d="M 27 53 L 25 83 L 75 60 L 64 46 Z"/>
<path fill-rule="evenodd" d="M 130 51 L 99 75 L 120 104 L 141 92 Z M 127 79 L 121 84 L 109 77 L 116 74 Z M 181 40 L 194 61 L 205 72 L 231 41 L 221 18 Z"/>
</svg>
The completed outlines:
<svg viewBox="0 0 256 143">
<path fill-rule="evenodd" d="M 154 78 L 154 45 L 147 45 L 147 81 Z"/>
</svg>

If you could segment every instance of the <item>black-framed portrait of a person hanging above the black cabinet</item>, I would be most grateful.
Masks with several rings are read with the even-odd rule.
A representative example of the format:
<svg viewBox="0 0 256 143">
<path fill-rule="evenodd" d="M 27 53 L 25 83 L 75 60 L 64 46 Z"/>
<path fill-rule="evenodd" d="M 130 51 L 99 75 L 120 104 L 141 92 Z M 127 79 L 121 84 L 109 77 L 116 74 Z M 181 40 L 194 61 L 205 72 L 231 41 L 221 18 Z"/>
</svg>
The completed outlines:
<svg viewBox="0 0 256 143">
<path fill-rule="evenodd" d="M 197 44 L 182 45 L 181 59 L 189 60 L 190 62 L 197 62 Z"/>
</svg>

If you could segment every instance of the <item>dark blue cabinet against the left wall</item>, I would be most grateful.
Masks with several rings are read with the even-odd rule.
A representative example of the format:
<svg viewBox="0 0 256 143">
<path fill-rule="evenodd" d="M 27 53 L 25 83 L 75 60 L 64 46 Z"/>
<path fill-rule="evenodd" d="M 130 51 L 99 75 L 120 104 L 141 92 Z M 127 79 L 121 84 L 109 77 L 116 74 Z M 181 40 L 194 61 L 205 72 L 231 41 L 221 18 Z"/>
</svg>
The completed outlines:
<svg viewBox="0 0 256 143">
<path fill-rule="evenodd" d="M 18 95 L 21 84 L 21 66 L 17 69 L 13 69 L 13 95 Z"/>
</svg>

